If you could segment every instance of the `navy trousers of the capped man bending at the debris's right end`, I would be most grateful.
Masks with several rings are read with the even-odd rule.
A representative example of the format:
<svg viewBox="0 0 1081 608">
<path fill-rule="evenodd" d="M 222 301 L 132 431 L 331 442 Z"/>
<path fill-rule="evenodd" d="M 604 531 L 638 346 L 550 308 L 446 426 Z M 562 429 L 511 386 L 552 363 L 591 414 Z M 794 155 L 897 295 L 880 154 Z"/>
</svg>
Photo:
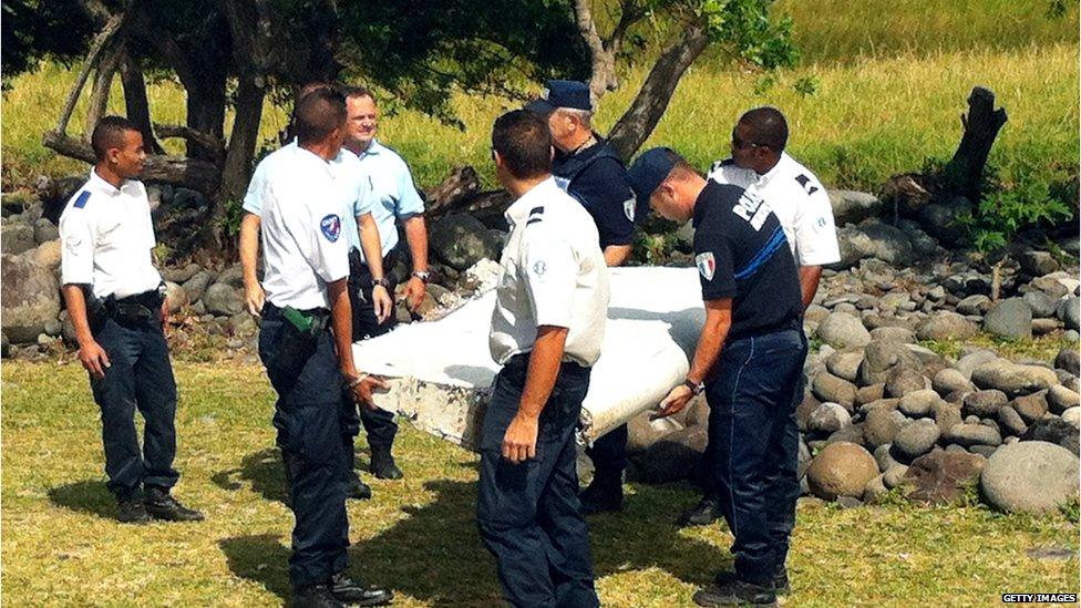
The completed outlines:
<svg viewBox="0 0 1081 608">
<path fill-rule="evenodd" d="M 800 496 L 795 393 L 806 354 L 799 329 L 732 340 L 706 384 L 707 486 L 734 537 L 743 580 L 771 580 L 787 557 Z"/>
</svg>

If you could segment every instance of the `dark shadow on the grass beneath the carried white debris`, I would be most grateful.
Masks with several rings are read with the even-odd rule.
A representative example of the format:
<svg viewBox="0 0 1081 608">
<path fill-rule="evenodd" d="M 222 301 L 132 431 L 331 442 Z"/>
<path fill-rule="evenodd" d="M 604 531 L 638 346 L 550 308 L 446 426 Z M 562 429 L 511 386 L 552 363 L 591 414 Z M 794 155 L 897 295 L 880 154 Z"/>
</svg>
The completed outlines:
<svg viewBox="0 0 1081 608">
<path fill-rule="evenodd" d="M 435 494 L 431 503 L 405 507 L 409 518 L 352 546 L 351 569 L 368 583 L 436 606 L 502 605 L 495 560 L 476 528 L 476 483 L 439 480 L 425 488 Z M 678 492 L 639 486 L 624 513 L 590 519 L 598 578 L 659 568 L 698 586 L 730 564 L 722 549 L 679 533 L 673 513 L 687 497 Z"/>
</svg>

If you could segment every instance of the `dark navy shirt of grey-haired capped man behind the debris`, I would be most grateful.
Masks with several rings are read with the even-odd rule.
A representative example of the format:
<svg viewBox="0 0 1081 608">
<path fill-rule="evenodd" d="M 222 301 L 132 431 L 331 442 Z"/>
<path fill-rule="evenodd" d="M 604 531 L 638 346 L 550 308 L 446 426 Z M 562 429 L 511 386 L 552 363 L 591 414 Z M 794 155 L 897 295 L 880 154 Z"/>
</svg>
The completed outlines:
<svg viewBox="0 0 1081 608">
<path fill-rule="evenodd" d="M 577 154 L 557 154 L 552 173 L 593 216 L 601 249 L 631 244 L 638 205 L 627 168 L 607 142 L 598 138 Z"/>
</svg>

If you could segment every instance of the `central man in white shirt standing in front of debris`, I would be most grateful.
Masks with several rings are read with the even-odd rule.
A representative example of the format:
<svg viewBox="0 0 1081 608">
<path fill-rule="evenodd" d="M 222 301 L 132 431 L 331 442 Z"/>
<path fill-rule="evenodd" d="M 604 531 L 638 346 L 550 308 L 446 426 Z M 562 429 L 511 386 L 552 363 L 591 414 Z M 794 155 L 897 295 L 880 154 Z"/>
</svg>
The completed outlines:
<svg viewBox="0 0 1081 608">
<path fill-rule="evenodd" d="M 506 210 L 488 346 L 503 369 L 481 435 L 477 524 L 513 606 L 598 606 L 575 430 L 600 357 L 608 269 L 588 212 L 552 177 L 552 136 L 517 110 L 492 130 Z"/>
</svg>

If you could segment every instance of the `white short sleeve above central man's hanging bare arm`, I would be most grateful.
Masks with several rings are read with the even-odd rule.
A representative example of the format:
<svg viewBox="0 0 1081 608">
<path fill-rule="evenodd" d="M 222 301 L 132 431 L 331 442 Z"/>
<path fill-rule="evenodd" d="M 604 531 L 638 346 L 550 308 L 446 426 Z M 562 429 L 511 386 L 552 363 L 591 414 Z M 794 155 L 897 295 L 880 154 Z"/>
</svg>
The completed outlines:
<svg viewBox="0 0 1081 608">
<path fill-rule="evenodd" d="M 532 234 L 531 234 L 532 233 Z M 578 265 L 570 244 L 543 230 L 525 235 L 518 272 L 526 286 L 536 327 L 570 327 Z"/>
</svg>

